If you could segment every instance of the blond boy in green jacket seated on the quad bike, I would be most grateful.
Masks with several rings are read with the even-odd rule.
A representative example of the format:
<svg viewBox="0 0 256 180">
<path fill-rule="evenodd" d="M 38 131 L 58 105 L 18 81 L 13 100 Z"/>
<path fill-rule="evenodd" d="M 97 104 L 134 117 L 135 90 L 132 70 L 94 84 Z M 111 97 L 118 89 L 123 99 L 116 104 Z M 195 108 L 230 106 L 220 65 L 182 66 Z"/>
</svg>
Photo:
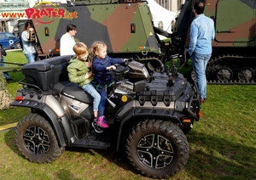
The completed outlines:
<svg viewBox="0 0 256 180">
<path fill-rule="evenodd" d="M 90 83 L 93 81 L 94 76 L 90 71 L 91 62 L 88 59 L 88 48 L 83 42 L 77 42 L 73 46 L 75 53 L 75 59 L 69 61 L 67 66 L 68 78 L 70 82 L 78 83 L 84 92 L 89 93 L 93 98 L 93 111 L 94 121 L 98 118 L 98 107 L 101 100 L 101 96 L 97 93 L 95 87 Z M 88 61 L 88 62 L 85 62 Z M 101 128 L 94 127 L 96 132 L 103 132 Z"/>
</svg>

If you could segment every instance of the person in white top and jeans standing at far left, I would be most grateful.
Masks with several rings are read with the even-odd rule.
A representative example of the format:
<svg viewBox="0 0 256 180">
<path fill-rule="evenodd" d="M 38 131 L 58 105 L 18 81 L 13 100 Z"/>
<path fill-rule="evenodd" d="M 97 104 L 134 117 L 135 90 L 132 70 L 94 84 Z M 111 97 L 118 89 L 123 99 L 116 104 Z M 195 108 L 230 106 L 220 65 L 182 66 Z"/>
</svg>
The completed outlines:
<svg viewBox="0 0 256 180">
<path fill-rule="evenodd" d="M 32 28 L 32 24 L 30 22 L 26 22 L 25 25 L 23 26 L 23 30 L 21 33 L 21 41 L 23 45 L 23 52 L 26 56 L 28 63 L 32 63 L 38 60 L 36 42 L 31 41 L 30 31 L 34 31 L 34 29 Z"/>
</svg>

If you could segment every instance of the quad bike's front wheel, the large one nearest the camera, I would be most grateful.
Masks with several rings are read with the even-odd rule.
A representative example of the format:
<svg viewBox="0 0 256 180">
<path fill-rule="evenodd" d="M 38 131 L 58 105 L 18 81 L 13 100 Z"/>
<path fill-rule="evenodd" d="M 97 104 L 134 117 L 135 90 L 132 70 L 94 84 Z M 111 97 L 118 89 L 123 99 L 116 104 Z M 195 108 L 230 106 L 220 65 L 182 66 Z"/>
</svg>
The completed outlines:
<svg viewBox="0 0 256 180">
<path fill-rule="evenodd" d="M 144 176 L 172 177 L 189 159 L 189 143 L 170 121 L 147 120 L 134 127 L 126 141 L 131 165 Z"/>
</svg>

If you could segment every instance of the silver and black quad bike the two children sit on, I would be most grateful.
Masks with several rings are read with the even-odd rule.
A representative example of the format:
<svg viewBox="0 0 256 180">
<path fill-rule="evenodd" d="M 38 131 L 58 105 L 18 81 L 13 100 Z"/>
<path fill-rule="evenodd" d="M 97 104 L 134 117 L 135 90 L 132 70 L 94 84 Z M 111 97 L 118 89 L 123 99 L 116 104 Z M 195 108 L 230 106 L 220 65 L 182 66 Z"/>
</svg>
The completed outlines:
<svg viewBox="0 0 256 180">
<path fill-rule="evenodd" d="M 189 158 L 185 133 L 201 116 L 195 85 L 176 70 L 149 76 L 139 60 L 119 65 L 105 110 L 110 128 L 97 133 L 91 127 L 92 98 L 68 81 L 70 58 L 22 67 L 23 87 L 11 105 L 31 109 L 15 128 L 15 142 L 26 159 L 47 163 L 65 147 L 84 147 L 125 150 L 131 165 L 147 177 L 171 177 L 183 169 Z"/>
</svg>

